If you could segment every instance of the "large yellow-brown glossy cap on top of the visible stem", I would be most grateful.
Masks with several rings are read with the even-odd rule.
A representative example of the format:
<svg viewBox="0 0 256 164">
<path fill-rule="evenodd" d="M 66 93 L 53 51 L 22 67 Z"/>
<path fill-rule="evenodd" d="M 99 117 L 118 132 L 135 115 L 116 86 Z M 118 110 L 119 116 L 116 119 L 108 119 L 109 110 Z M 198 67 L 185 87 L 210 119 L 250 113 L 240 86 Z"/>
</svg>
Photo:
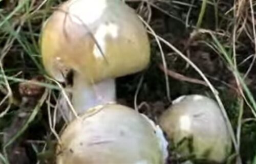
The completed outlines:
<svg viewBox="0 0 256 164">
<path fill-rule="evenodd" d="M 70 0 L 42 28 L 42 62 L 55 79 L 68 70 L 90 82 L 142 71 L 150 62 L 146 30 L 122 1 Z"/>
</svg>

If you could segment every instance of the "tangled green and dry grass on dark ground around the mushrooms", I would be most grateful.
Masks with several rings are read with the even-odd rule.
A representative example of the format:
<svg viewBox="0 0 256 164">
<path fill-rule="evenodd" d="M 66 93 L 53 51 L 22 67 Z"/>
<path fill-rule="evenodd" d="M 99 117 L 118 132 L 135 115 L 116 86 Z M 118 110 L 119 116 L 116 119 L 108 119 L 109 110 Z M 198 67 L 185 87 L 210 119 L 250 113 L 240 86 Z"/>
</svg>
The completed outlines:
<svg viewBox="0 0 256 164">
<path fill-rule="evenodd" d="M 19 93 L 19 84 L 38 75 L 47 77 L 41 64 L 38 40 L 42 25 L 60 2 L 0 1 L 2 140 L 6 128 L 20 111 L 23 95 Z M 252 0 L 152 1 L 142 6 L 139 0 L 127 3 L 138 11 L 142 20 L 147 20 L 144 23 L 151 38 L 152 62 L 142 78 L 141 74 L 136 74 L 117 79 L 118 98 L 143 111 L 139 105 L 142 102 L 153 107 L 160 101 L 167 107 L 170 100 L 180 95 L 201 93 L 212 97 L 219 103 L 232 136 L 234 149 L 230 163 L 234 160 L 256 163 L 256 147 L 253 146 L 256 145 L 256 3 Z M 160 63 L 165 69 L 202 80 L 207 86 L 169 77 L 159 69 Z M 50 163 L 49 152 L 54 148 L 51 142 L 56 142 L 62 127 L 55 116 L 56 101 L 63 88 L 46 79 L 33 82 L 46 87 L 47 92 L 35 100 L 36 105 L 29 111 L 25 124 L 7 143 L 0 140 L 2 163 L 9 163 L 5 149 L 20 140 L 29 152 L 31 163 Z M 161 112 L 156 109 L 146 114 L 157 119 Z M 35 130 L 35 126 L 42 127 L 42 131 Z M 28 144 L 27 140 L 34 143 Z M 45 144 L 38 144 L 38 140 Z M 43 158 L 38 160 L 38 155 Z"/>
</svg>

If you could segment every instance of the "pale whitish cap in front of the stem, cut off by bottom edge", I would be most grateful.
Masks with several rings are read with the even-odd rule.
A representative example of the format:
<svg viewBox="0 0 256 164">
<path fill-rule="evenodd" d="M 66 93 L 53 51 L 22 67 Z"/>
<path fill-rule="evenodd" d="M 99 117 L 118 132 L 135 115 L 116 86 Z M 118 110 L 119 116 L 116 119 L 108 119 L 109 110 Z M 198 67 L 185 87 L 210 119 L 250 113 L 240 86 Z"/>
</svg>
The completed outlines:
<svg viewBox="0 0 256 164">
<path fill-rule="evenodd" d="M 152 123 L 122 105 L 89 110 L 61 134 L 57 164 L 164 163 L 166 140 Z"/>
</svg>

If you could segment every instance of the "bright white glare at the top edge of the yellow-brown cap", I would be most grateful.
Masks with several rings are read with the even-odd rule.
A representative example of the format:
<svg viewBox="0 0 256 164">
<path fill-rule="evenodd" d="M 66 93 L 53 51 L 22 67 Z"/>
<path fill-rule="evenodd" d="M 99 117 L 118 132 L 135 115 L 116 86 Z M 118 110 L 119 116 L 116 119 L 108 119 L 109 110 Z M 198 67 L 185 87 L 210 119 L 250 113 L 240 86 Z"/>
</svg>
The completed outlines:
<svg viewBox="0 0 256 164">
<path fill-rule="evenodd" d="M 106 5 L 106 0 L 74 0 L 69 7 L 71 19 L 89 26 L 102 16 Z"/>
</svg>

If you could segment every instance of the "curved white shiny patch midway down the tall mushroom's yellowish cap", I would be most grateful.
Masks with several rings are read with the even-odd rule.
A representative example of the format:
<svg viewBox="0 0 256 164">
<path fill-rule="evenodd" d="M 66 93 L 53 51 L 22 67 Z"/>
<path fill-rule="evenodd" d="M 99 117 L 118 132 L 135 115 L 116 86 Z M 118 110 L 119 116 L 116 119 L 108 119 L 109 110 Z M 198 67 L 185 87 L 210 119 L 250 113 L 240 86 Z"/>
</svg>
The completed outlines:
<svg viewBox="0 0 256 164">
<path fill-rule="evenodd" d="M 94 44 L 94 56 L 96 58 L 102 58 L 103 59 L 103 55 L 105 54 L 106 51 L 106 37 L 112 37 L 112 38 L 116 38 L 118 36 L 118 27 L 113 24 L 113 23 L 108 23 L 108 24 L 103 24 L 101 26 L 99 26 L 99 28 L 97 29 L 94 37 L 100 47 L 100 50 L 102 51 L 102 53 L 100 52 L 98 45 L 95 43 Z"/>
</svg>

